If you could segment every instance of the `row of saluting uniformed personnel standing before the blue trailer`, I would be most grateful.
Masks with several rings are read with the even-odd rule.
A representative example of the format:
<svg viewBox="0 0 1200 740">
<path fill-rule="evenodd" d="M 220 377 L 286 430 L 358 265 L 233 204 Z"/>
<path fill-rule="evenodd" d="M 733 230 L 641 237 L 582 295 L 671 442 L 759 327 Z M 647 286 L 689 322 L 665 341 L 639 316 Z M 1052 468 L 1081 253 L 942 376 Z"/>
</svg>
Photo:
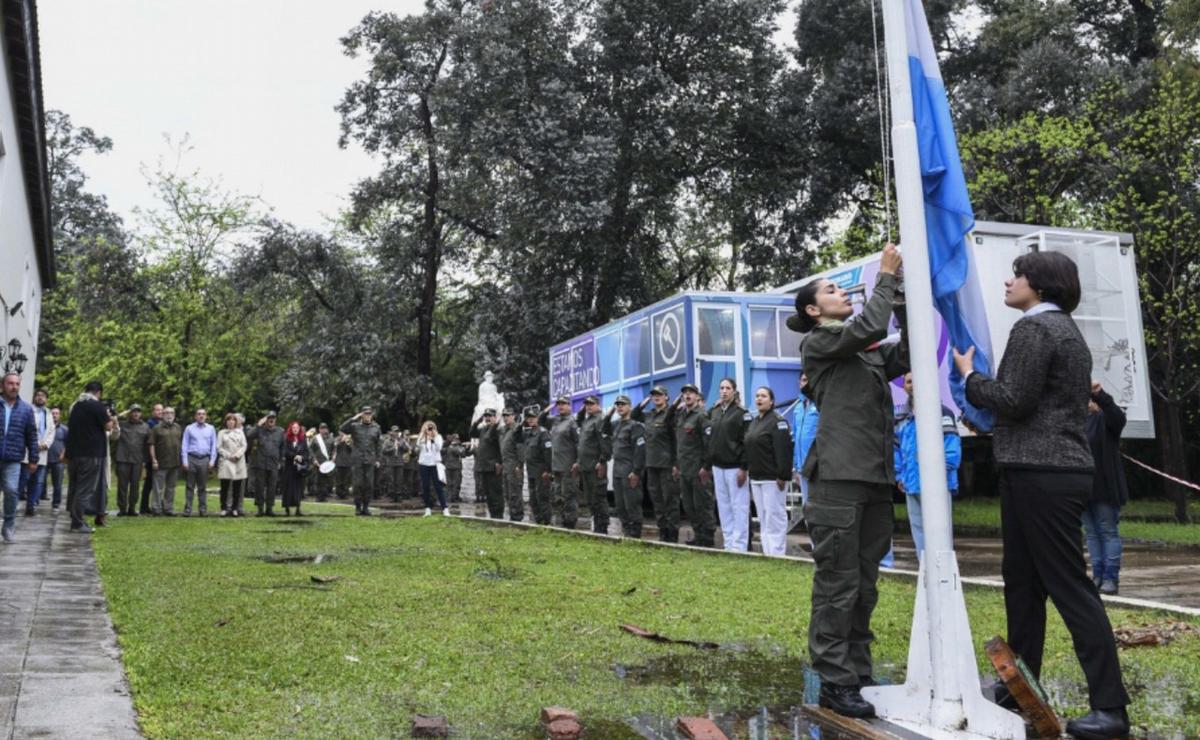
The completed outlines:
<svg viewBox="0 0 1200 740">
<path fill-rule="evenodd" d="M 508 504 L 510 518 L 523 519 L 522 486 L 528 480 L 535 522 L 550 524 L 557 518 L 574 529 L 582 497 L 592 511 L 594 531 L 605 534 L 608 464 L 613 467 L 614 501 L 625 536 L 641 536 L 643 479 L 660 539 L 666 542 L 678 542 L 682 503 L 695 531 L 692 543 L 713 546 L 709 481 L 726 469 L 740 471 L 743 481 L 774 483 L 782 511 L 782 491 L 792 475 L 788 423 L 774 411 L 768 389 L 758 391 L 763 402 L 755 416 L 736 403 L 731 380 L 724 380 L 721 387 L 722 399 L 709 411 L 691 384 L 683 386 L 674 402 L 665 387 L 656 386 L 640 405 L 618 396 L 607 411 L 601 410 L 599 398 L 589 396 L 572 414 L 571 399 L 562 396 L 540 413 L 527 409 L 521 425 L 512 409 L 505 409 L 500 420 L 494 409 L 486 409 L 472 423 L 472 435 L 479 439 L 475 470 L 490 516 L 503 517 Z M 550 415 L 552 409 L 557 415 Z M 722 509 L 722 524 L 728 516 Z M 745 516 L 749 519 L 749 506 Z"/>
</svg>

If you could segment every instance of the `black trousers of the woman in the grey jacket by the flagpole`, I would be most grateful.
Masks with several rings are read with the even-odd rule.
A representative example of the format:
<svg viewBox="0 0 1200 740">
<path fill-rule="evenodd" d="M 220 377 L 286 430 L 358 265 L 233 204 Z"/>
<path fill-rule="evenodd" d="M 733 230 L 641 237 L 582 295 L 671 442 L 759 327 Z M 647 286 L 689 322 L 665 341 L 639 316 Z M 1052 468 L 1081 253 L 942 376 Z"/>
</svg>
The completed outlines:
<svg viewBox="0 0 1200 740">
<path fill-rule="evenodd" d="M 1070 632 L 1092 709 L 1129 704 L 1112 626 L 1084 562 L 1081 516 L 1092 474 L 1008 468 L 1000 494 L 1008 644 L 1042 675 L 1049 596 Z"/>
</svg>

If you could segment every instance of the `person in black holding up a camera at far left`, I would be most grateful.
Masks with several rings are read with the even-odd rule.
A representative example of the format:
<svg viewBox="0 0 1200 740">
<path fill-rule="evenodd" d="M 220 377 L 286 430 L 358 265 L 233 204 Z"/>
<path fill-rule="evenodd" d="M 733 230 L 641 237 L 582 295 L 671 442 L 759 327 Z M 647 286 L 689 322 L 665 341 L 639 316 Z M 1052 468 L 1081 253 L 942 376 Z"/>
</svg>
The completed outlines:
<svg viewBox="0 0 1200 740">
<path fill-rule="evenodd" d="M 116 416 L 109 404 L 101 401 L 103 386 L 92 380 L 83 389 L 83 395 L 71 407 L 67 415 L 67 511 L 71 512 L 71 531 L 92 531 L 83 521 L 97 492 L 101 489 L 104 461 L 108 457 L 108 432 L 116 425 Z M 96 506 L 96 525 L 103 527 L 104 511 Z"/>
</svg>

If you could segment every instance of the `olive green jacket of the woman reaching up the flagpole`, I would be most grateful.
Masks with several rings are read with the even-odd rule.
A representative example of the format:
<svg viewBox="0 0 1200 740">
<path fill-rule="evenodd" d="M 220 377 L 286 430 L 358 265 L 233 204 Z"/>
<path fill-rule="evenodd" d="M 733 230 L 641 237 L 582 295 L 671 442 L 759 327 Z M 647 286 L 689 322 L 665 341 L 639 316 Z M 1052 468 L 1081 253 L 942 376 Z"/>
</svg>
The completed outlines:
<svg viewBox="0 0 1200 740">
<path fill-rule="evenodd" d="M 800 341 L 808 395 L 821 409 L 817 437 L 804 458 L 810 481 L 895 483 L 890 378 L 908 371 L 904 313 L 900 342 L 888 333 L 896 277 L 880 273 L 863 312 L 850 321 L 821 324 Z"/>
</svg>

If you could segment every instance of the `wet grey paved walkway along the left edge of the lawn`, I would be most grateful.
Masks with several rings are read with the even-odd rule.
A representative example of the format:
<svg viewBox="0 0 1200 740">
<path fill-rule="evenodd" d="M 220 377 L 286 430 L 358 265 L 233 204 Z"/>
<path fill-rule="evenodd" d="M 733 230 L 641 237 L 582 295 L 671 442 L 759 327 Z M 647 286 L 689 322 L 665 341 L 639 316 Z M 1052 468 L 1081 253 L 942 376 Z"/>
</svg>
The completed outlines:
<svg viewBox="0 0 1200 740">
<path fill-rule="evenodd" d="M 91 537 L 20 513 L 0 545 L 0 739 L 140 738 Z"/>
</svg>

